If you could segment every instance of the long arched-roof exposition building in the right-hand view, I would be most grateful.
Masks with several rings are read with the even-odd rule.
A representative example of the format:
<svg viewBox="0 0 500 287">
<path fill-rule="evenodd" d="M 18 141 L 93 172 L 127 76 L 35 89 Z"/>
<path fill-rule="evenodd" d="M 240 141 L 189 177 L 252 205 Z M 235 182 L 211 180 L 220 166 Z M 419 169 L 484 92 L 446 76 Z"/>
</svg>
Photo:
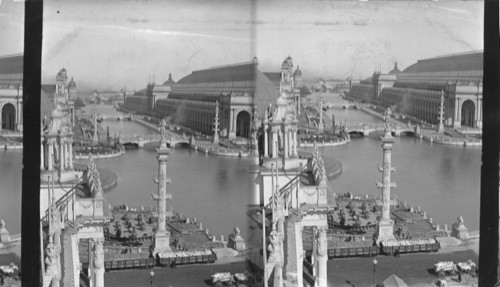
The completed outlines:
<svg viewBox="0 0 500 287">
<path fill-rule="evenodd" d="M 438 122 L 444 93 L 445 125 L 482 128 L 483 52 L 453 54 L 419 60 L 400 72 L 375 72 L 354 84 L 349 96 L 392 106 L 401 113 Z"/>
</svg>

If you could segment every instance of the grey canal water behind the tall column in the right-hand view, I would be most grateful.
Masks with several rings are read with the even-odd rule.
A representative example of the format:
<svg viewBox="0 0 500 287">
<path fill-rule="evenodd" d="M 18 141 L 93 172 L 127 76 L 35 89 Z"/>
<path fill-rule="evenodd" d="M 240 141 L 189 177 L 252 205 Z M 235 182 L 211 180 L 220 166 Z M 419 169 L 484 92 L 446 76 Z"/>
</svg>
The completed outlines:
<svg viewBox="0 0 500 287">
<path fill-rule="evenodd" d="M 330 109 L 337 123 L 380 122 L 371 115 L 357 110 Z M 382 174 L 381 134 L 352 137 L 342 147 L 320 148 L 326 158 L 342 162 L 342 176 L 331 182 L 337 193 L 380 194 L 375 187 Z M 392 165 L 396 172 L 392 180 L 397 187 L 392 190 L 409 205 L 421 206 L 441 227 L 464 218 L 469 231 L 479 230 L 480 198 L 480 147 L 458 147 L 431 144 L 413 136 L 395 137 Z"/>
</svg>

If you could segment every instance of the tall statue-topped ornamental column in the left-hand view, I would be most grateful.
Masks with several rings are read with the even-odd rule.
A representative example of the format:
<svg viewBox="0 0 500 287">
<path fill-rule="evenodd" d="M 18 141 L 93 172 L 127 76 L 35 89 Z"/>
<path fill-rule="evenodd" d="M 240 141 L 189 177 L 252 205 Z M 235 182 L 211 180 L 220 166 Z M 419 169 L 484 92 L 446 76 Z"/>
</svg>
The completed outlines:
<svg viewBox="0 0 500 287">
<path fill-rule="evenodd" d="M 166 209 L 167 209 L 167 199 L 172 198 L 171 193 L 167 193 L 167 184 L 170 183 L 170 179 L 167 178 L 167 159 L 169 150 L 167 148 L 166 137 L 166 123 L 162 120 L 160 123 L 160 147 L 156 149 L 157 159 L 158 159 L 158 179 L 153 181 L 158 184 L 158 192 L 153 194 L 153 199 L 157 200 L 157 212 L 158 212 L 158 225 L 156 228 L 156 233 L 154 234 L 153 242 L 153 254 L 156 255 L 159 252 L 169 251 L 170 249 L 170 231 L 166 227 Z"/>
</svg>

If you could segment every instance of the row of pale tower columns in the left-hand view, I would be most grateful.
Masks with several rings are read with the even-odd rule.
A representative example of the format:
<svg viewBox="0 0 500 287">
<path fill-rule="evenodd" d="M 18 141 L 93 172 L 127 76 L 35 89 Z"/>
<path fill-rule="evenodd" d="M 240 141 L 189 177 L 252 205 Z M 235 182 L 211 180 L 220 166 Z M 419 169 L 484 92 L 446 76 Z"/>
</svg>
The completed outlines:
<svg viewBox="0 0 500 287">
<path fill-rule="evenodd" d="M 59 159 L 59 170 L 73 169 L 73 145 L 72 141 L 55 139 L 45 140 L 40 143 L 40 169 L 54 170 L 55 159 Z"/>
</svg>

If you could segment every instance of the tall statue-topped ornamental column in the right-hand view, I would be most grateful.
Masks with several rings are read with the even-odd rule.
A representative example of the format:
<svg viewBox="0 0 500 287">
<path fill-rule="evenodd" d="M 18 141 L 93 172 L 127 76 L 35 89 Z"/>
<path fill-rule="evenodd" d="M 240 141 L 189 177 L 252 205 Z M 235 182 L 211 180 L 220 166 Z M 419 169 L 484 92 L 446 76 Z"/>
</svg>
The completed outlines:
<svg viewBox="0 0 500 287">
<path fill-rule="evenodd" d="M 386 120 L 385 135 L 381 137 L 383 149 L 383 167 L 379 166 L 379 171 L 382 172 L 382 182 L 377 182 L 377 187 L 382 189 L 382 216 L 377 227 L 377 243 L 384 240 L 394 239 L 393 222 L 390 218 L 390 201 L 391 188 L 396 187 L 394 182 L 391 182 L 391 172 L 395 169 L 391 166 L 391 151 L 394 138 L 391 135 L 388 118 Z"/>
</svg>

